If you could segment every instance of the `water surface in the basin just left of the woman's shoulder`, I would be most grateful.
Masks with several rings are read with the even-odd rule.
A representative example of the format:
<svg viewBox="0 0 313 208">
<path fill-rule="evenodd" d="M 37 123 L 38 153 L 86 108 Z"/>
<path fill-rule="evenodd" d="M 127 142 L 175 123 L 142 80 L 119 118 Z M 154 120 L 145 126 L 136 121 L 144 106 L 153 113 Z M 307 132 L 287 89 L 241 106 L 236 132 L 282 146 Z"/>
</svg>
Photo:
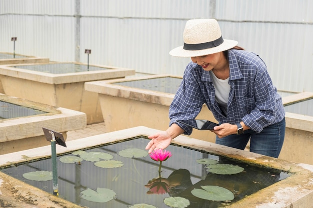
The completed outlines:
<svg viewBox="0 0 313 208">
<path fill-rule="evenodd" d="M 181 80 L 181 78 L 175 77 L 160 77 L 153 79 L 115 82 L 113 84 L 175 94 Z"/>
</svg>

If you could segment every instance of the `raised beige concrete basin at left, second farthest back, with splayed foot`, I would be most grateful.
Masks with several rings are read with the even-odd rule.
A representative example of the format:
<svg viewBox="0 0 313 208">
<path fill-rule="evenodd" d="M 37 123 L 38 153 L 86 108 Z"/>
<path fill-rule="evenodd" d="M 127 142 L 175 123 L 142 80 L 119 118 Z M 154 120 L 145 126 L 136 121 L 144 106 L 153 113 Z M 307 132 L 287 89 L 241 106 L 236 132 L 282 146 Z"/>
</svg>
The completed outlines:
<svg viewBox="0 0 313 208">
<path fill-rule="evenodd" d="M 98 94 L 84 90 L 84 82 L 122 78 L 132 69 L 81 63 L 15 64 L 0 66 L 0 89 L 10 96 L 81 111 L 87 124 L 103 121 Z"/>
</svg>

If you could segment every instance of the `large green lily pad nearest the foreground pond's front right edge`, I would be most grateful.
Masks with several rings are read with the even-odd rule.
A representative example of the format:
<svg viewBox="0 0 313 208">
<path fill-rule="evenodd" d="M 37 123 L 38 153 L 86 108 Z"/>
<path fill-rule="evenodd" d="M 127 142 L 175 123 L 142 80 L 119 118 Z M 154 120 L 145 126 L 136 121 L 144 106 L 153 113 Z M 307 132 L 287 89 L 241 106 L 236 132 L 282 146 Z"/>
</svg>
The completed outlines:
<svg viewBox="0 0 313 208">
<path fill-rule="evenodd" d="M 191 194 L 197 198 L 209 201 L 222 202 L 233 200 L 234 196 L 228 189 L 218 186 L 201 186 L 202 189 L 193 189 Z"/>
</svg>

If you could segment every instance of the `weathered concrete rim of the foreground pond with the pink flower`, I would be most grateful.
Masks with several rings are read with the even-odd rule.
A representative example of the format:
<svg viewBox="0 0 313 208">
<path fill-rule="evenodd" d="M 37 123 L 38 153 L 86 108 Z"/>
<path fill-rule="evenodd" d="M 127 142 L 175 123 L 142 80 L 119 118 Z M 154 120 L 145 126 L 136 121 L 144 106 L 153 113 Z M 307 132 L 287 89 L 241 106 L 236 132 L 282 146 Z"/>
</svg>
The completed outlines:
<svg viewBox="0 0 313 208">
<path fill-rule="evenodd" d="M 99 147 L 117 141 L 128 140 L 140 136 L 148 136 L 158 131 L 143 126 L 95 135 L 66 143 L 67 147 L 57 146 L 57 154 L 64 155 L 76 150 Z M 148 140 L 147 140 L 148 142 Z M 172 140 L 173 144 L 191 148 L 193 150 L 205 151 L 213 155 L 242 161 L 256 166 L 273 168 L 288 172 L 291 175 L 275 184 L 246 196 L 243 199 L 227 206 L 227 208 L 311 208 L 313 201 L 313 166 L 237 150 L 214 143 L 178 136 Z M 0 168 L 16 166 L 34 160 L 49 158 L 50 146 L 39 147 L 31 150 L 0 155 Z M 170 159 L 168 160 L 170 161 Z M 167 162 L 167 161 L 166 161 Z M 183 163 L 183 161 L 181 161 Z M 66 172 L 65 169 L 59 170 Z M 59 182 L 61 183 L 61 182 Z M 51 182 L 52 184 L 52 182 Z M 142 185 L 143 186 L 143 185 Z M 128 202 L 136 199 L 136 192 L 129 196 L 117 196 L 119 201 Z M 55 207 L 55 208 L 81 208 L 61 198 L 52 196 L 32 186 L 18 181 L 0 172 L 0 201 L 3 205 L 10 204 L 11 207 Z M 28 207 L 27 207 L 28 206 Z"/>
</svg>

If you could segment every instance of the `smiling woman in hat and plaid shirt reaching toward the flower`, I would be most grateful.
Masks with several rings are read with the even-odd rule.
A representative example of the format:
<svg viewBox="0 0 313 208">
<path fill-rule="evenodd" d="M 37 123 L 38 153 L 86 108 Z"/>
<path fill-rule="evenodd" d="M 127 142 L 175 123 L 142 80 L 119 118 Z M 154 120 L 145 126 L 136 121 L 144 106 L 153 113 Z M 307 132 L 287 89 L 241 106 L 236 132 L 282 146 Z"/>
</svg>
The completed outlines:
<svg viewBox="0 0 313 208">
<path fill-rule="evenodd" d="M 220 124 L 211 130 L 217 144 L 243 150 L 250 139 L 251 152 L 277 158 L 285 112 L 262 59 L 223 39 L 215 19 L 188 20 L 183 40 L 169 54 L 191 62 L 169 107 L 169 128 L 148 137 L 148 152 L 190 135 L 192 129 L 176 120 L 194 119 L 205 103 Z"/>
</svg>

